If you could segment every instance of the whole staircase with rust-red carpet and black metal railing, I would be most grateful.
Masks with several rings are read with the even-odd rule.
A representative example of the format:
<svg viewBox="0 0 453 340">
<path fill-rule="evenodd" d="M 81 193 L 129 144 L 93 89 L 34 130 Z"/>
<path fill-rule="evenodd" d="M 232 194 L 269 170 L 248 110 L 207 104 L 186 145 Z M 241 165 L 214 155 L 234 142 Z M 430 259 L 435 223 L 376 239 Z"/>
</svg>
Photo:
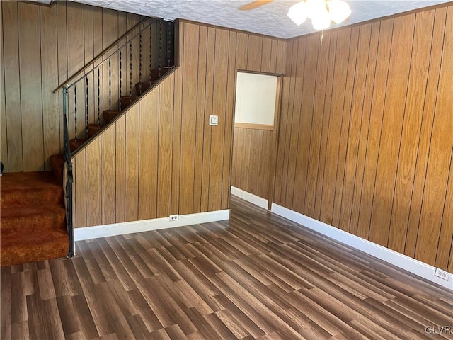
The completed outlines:
<svg viewBox="0 0 453 340">
<path fill-rule="evenodd" d="M 137 30 L 127 42 L 113 43 L 120 45 L 115 52 L 88 62 L 96 66 L 82 68 L 72 84 L 55 90 L 63 94 L 64 148 L 50 157 L 52 171 L 1 177 L 1 266 L 74 256 L 72 154 L 127 114 L 174 67 L 173 23 L 149 18 Z"/>
</svg>

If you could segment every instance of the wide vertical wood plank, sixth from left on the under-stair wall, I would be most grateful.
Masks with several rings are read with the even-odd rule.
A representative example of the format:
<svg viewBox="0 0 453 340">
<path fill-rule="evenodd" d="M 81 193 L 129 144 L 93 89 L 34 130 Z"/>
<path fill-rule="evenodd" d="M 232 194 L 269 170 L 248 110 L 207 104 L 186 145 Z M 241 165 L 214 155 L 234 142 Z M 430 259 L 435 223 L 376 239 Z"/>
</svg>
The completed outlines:
<svg viewBox="0 0 453 340">
<path fill-rule="evenodd" d="M 139 220 L 157 216 L 158 134 L 159 91 L 153 91 L 139 103 Z"/>
</svg>

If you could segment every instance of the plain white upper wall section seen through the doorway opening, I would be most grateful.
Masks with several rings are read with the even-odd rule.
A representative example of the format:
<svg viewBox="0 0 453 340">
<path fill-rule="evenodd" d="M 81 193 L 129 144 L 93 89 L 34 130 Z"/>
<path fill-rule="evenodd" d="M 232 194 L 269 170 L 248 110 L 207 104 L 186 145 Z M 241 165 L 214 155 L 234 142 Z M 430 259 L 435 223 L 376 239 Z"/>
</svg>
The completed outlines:
<svg viewBox="0 0 453 340">
<path fill-rule="evenodd" d="M 238 72 L 234 123 L 274 124 L 277 77 Z"/>
</svg>

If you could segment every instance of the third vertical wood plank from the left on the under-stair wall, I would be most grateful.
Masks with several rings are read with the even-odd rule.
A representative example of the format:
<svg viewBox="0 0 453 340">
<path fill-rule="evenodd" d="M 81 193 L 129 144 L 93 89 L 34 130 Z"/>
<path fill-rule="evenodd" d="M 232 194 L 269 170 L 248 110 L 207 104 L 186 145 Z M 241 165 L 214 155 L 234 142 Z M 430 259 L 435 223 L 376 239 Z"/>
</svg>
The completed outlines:
<svg viewBox="0 0 453 340">
<path fill-rule="evenodd" d="M 115 129 L 107 129 L 101 135 L 101 224 L 116 222 L 115 216 Z"/>
</svg>

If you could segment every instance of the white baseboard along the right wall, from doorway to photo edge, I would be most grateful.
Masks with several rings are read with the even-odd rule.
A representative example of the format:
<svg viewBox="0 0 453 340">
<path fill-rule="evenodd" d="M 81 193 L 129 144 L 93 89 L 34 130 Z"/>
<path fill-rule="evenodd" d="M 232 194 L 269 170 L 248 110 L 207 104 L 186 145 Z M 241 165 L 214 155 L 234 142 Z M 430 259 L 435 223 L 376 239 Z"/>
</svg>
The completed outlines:
<svg viewBox="0 0 453 340">
<path fill-rule="evenodd" d="M 398 268 L 402 268 L 405 271 L 425 278 L 426 280 L 430 280 L 432 283 L 437 283 L 437 285 L 453 290 L 452 273 L 449 273 L 448 281 L 442 280 L 442 278 L 434 276 L 435 267 L 386 248 L 385 246 L 362 239 L 362 237 L 355 236 L 349 232 L 344 232 L 341 229 L 337 229 L 336 227 L 332 227 L 324 222 L 302 215 L 299 212 L 295 212 L 294 210 L 290 210 L 275 203 L 272 203 L 272 212 L 285 217 L 288 220 L 297 222 L 299 225 L 314 230 L 315 232 L 319 232 L 324 236 L 331 237 L 338 242 L 347 244 L 348 246 L 352 246 L 353 248 L 363 251 L 366 254 L 377 257 L 377 259 L 381 259 L 382 261 L 386 261 L 394 266 L 397 266 Z"/>
</svg>

